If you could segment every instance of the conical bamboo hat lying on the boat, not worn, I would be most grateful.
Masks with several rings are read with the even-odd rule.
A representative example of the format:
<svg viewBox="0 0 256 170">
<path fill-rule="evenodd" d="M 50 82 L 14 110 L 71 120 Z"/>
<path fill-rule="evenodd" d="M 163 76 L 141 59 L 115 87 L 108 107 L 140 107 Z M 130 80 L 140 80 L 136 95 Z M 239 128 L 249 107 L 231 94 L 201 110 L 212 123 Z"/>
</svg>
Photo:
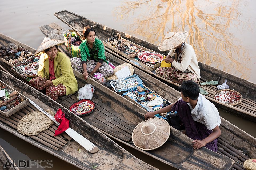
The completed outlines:
<svg viewBox="0 0 256 170">
<path fill-rule="evenodd" d="M 161 118 L 151 118 L 139 123 L 131 134 L 136 147 L 153 150 L 162 146 L 170 136 L 170 125 Z"/>
</svg>

